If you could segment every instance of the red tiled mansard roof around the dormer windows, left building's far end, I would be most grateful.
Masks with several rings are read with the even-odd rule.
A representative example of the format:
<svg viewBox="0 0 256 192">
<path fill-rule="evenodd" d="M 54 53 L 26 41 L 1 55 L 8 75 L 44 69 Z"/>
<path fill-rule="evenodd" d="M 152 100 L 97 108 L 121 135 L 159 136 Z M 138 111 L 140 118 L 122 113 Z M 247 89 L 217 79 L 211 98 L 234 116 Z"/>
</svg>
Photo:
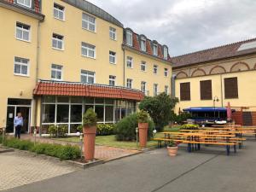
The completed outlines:
<svg viewBox="0 0 256 192">
<path fill-rule="evenodd" d="M 136 49 L 139 52 L 157 57 L 161 60 L 166 60 L 164 58 L 164 47 L 166 45 L 158 44 L 156 41 L 150 40 L 150 39 L 146 38 L 144 35 L 138 35 L 136 32 L 133 32 L 131 30 L 131 28 L 125 28 L 125 30 L 124 30 L 124 44 L 126 46 L 130 47 L 130 45 L 126 44 L 126 31 L 131 31 L 132 32 L 132 47 L 131 47 L 132 49 Z M 146 51 L 143 51 L 140 47 L 140 37 L 146 38 Z M 158 55 L 153 54 L 153 48 L 152 48 L 153 44 L 156 44 L 157 47 L 158 47 Z M 168 49 L 167 46 L 166 46 L 166 48 Z M 171 57 L 170 57 L 169 53 L 168 53 L 168 58 L 167 58 L 166 61 L 171 61 Z"/>
</svg>

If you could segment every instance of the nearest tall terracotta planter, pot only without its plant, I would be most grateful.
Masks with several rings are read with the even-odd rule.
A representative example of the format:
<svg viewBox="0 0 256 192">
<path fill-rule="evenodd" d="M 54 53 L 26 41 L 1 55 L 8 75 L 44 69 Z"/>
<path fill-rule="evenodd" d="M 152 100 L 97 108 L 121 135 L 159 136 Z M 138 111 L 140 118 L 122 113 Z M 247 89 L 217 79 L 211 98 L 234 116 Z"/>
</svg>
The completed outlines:
<svg viewBox="0 0 256 192">
<path fill-rule="evenodd" d="M 84 127 L 84 160 L 94 160 L 96 126 Z"/>
</svg>

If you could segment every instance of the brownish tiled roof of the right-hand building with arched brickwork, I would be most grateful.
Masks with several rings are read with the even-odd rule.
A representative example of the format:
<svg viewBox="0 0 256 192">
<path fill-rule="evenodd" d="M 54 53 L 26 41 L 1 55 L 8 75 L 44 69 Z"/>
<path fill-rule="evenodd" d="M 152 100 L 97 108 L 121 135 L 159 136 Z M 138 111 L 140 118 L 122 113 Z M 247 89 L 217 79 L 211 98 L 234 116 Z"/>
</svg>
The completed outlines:
<svg viewBox="0 0 256 192">
<path fill-rule="evenodd" d="M 183 67 L 206 61 L 216 61 L 234 56 L 256 53 L 256 48 L 238 50 L 241 47 L 241 44 L 247 44 L 253 41 L 256 41 L 256 38 L 172 57 L 173 67 Z"/>
</svg>

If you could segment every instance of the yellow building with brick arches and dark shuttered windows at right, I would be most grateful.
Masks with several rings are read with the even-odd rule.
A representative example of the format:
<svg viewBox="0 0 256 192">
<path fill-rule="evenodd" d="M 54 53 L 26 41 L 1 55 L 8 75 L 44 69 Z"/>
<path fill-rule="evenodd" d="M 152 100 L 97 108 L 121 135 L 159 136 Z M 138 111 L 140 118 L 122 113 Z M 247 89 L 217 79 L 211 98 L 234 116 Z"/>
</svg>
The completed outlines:
<svg viewBox="0 0 256 192">
<path fill-rule="evenodd" d="M 237 111 L 247 112 L 244 121 L 255 125 L 256 39 L 173 57 L 172 61 L 173 95 L 179 98 L 176 113 L 185 108 L 225 108 L 230 102 Z"/>
</svg>

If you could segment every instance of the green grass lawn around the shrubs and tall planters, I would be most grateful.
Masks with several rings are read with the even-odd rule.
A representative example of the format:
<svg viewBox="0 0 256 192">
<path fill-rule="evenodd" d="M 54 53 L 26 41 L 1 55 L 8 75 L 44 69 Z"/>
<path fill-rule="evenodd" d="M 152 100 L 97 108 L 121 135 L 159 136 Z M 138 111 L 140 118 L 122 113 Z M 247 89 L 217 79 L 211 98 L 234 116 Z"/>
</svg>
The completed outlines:
<svg viewBox="0 0 256 192">
<path fill-rule="evenodd" d="M 168 128 L 165 131 L 179 131 L 178 127 L 173 127 L 172 129 Z M 163 137 L 163 134 L 156 133 L 155 137 Z M 79 142 L 79 137 L 67 137 L 67 138 L 56 138 L 61 141 L 67 142 Z M 116 148 L 131 148 L 138 149 L 136 142 L 119 142 L 115 140 L 115 136 L 98 136 L 96 137 L 96 145 L 104 145 L 108 147 L 116 147 Z M 148 141 L 147 147 L 157 146 L 157 142 Z"/>
</svg>

